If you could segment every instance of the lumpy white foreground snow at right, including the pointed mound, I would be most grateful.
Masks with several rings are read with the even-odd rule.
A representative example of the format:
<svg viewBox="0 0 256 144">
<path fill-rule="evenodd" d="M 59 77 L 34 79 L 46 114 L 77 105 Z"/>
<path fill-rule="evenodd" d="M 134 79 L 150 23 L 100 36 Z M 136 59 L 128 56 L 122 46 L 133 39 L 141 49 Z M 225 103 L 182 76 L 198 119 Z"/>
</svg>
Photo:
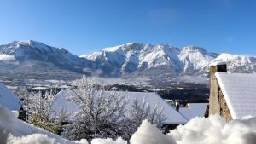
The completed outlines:
<svg viewBox="0 0 256 144">
<path fill-rule="evenodd" d="M 255 144 L 256 118 L 226 123 L 218 115 L 194 118 L 163 135 L 144 121 L 131 137 L 131 144 Z"/>
</svg>

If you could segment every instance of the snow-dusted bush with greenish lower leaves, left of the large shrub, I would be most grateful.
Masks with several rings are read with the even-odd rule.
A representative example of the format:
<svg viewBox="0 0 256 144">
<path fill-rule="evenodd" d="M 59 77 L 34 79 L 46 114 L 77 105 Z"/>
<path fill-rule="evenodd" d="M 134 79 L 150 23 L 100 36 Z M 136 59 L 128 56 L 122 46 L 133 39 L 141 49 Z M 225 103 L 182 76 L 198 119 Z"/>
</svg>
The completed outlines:
<svg viewBox="0 0 256 144">
<path fill-rule="evenodd" d="M 63 119 L 51 117 L 52 115 L 60 115 L 52 110 L 55 100 L 55 93 L 52 90 L 50 92 L 46 91 L 44 95 L 40 91 L 30 92 L 26 97 L 25 107 L 27 109 L 28 123 L 55 134 L 61 131 L 61 120 Z M 61 118 L 63 118 L 62 113 Z"/>
</svg>

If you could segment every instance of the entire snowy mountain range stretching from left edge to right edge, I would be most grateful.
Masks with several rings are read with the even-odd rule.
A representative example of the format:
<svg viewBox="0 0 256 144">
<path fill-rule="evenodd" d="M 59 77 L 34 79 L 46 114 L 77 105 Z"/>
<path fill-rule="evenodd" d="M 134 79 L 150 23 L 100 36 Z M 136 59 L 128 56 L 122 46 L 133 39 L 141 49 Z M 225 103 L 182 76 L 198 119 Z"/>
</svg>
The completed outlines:
<svg viewBox="0 0 256 144">
<path fill-rule="evenodd" d="M 0 45 L 0 75 L 13 77 L 207 75 L 208 66 L 214 60 L 226 61 L 230 72 L 256 72 L 253 56 L 219 55 L 195 46 L 176 48 L 168 44 L 127 43 L 77 56 L 66 49 L 32 40 Z"/>
</svg>

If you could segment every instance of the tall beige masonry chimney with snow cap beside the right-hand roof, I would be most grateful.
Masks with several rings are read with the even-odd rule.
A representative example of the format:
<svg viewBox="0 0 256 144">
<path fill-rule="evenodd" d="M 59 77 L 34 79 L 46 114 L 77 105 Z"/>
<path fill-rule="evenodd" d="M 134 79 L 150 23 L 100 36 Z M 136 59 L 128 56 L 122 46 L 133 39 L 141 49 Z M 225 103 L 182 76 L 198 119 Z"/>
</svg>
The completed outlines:
<svg viewBox="0 0 256 144">
<path fill-rule="evenodd" d="M 220 114 L 218 102 L 218 81 L 215 77 L 216 72 L 227 72 L 225 62 L 216 61 L 210 65 L 210 98 L 209 98 L 209 115 Z"/>
</svg>

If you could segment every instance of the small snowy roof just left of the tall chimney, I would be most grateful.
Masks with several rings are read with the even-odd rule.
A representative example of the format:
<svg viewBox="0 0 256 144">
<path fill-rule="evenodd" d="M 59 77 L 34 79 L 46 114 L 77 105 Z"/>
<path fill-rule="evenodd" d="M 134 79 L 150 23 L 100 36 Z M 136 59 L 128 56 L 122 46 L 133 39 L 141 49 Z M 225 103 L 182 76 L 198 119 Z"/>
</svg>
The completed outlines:
<svg viewBox="0 0 256 144">
<path fill-rule="evenodd" d="M 179 112 L 188 120 L 195 117 L 204 117 L 208 103 L 189 103 L 189 107 L 179 108 Z"/>
</svg>

